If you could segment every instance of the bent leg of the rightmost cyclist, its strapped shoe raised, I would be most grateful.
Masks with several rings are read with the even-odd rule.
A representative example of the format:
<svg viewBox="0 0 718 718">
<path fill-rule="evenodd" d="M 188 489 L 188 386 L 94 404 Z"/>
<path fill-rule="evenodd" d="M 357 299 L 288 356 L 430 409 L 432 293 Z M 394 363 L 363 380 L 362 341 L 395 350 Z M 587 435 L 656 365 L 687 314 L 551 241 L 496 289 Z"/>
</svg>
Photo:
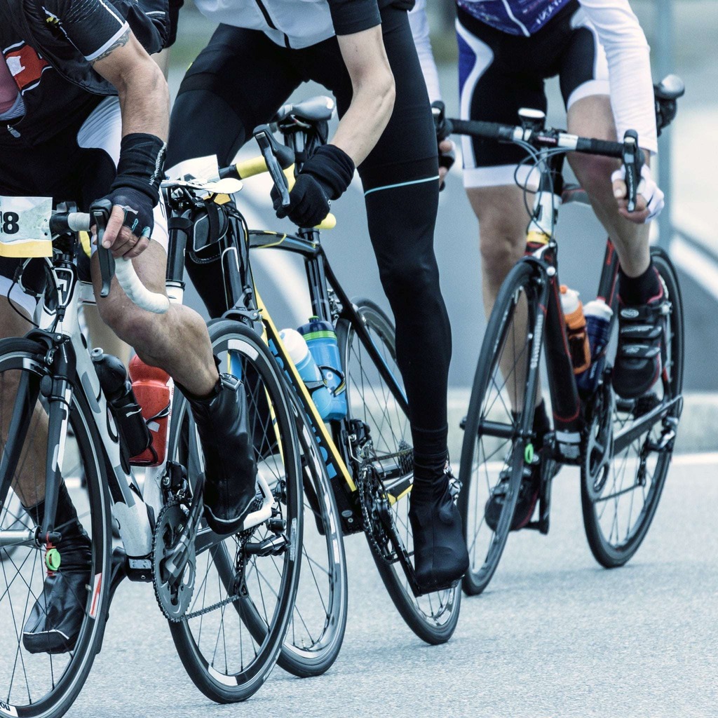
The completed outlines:
<svg viewBox="0 0 718 718">
<path fill-rule="evenodd" d="M 577 29 L 561 68 L 569 132 L 615 141 L 605 52 L 582 13 L 577 14 L 574 24 Z M 641 396 L 658 379 L 663 348 L 660 327 L 664 297 L 651 263 L 650 225 L 635 224 L 618 213 L 611 182 L 612 172 L 619 167 L 617 160 L 569 154 L 569 162 L 620 259 L 620 332 L 613 385 L 620 396 Z M 635 312 L 638 316 L 634 318 Z"/>
</svg>

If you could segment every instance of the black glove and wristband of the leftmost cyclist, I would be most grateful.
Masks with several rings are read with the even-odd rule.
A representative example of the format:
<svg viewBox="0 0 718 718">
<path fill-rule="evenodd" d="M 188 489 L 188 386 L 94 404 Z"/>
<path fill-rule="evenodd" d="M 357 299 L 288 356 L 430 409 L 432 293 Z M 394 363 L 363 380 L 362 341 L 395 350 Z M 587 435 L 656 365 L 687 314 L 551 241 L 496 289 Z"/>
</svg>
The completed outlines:
<svg viewBox="0 0 718 718">
<path fill-rule="evenodd" d="M 152 234 L 166 149 L 164 142 L 151 134 L 122 138 L 117 175 L 107 199 L 125 210 L 124 225 L 136 237 Z"/>
</svg>

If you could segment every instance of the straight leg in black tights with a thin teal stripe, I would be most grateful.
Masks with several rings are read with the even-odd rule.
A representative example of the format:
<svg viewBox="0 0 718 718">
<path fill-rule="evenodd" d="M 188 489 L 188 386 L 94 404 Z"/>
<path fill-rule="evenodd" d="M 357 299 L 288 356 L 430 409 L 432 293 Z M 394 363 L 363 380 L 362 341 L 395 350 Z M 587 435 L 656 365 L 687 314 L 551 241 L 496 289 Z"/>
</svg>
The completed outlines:
<svg viewBox="0 0 718 718">
<path fill-rule="evenodd" d="M 444 473 L 451 328 L 434 256 L 437 142 L 406 11 L 386 7 L 381 17 L 396 100 L 386 130 L 358 171 L 370 238 L 396 322 L 397 362 L 414 442 L 409 514 L 414 561 L 419 584 L 429 589 L 458 579 L 468 565 L 461 519 Z M 307 74 L 335 93 L 343 114 L 352 92 L 336 39 L 299 52 Z M 439 511 L 443 509 L 446 516 L 447 506 L 453 518 L 442 524 Z"/>
</svg>

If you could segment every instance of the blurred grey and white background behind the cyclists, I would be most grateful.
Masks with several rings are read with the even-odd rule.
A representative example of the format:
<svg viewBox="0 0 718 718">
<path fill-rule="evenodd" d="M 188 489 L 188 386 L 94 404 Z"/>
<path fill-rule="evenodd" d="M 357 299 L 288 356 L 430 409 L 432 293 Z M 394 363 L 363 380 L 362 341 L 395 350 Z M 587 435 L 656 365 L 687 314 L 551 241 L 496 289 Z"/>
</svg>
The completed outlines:
<svg viewBox="0 0 718 718">
<path fill-rule="evenodd" d="M 449 116 L 459 111 L 457 47 L 454 34 L 454 3 L 429 0 L 432 43 L 439 64 L 442 93 Z M 653 79 L 677 73 L 686 83 L 686 95 L 679 101 L 676 121 L 661 138 L 664 159 L 661 186 L 668 207 L 661 232 L 653 228 L 653 239 L 661 243 L 679 267 L 686 314 L 686 390 L 691 393 L 691 411 L 681 424 L 681 448 L 714 450 L 718 438 L 712 426 L 718 423 L 718 234 L 712 228 L 716 201 L 709 194 L 714 168 L 718 167 L 718 2 L 716 0 L 631 0 L 631 6 L 651 44 Z M 205 46 L 213 24 L 187 0 L 180 14 L 177 45 L 172 48 L 169 73 L 172 95 L 177 93 L 188 65 Z M 243 67 L 237 67 L 238 73 Z M 548 122 L 564 126 L 565 112 L 557 80 L 547 83 Z M 294 99 L 325 94 L 311 83 L 303 85 Z M 192 118 L 184 118 L 191 123 Z M 206 131 L 223 131 L 207 128 Z M 240 153 L 257 154 L 248 144 Z M 660 162 L 659 157 L 659 162 Z M 461 161 L 452 170 L 447 188 L 440 197 L 436 251 L 442 273 L 442 288 L 452 320 L 454 337 L 450 374 L 450 428 L 454 441 L 452 455 L 458 457 L 458 421 L 466 411 L 468 388 L 485 329 L 480 292 L 480 256 L 477 222 L 462 185 Z M 269 202 L 269 179 L 246 182 L 238 197 L 251 227 L 290 230 L 287 220 L 276 220 Z M 381 284 L 365 227 L 363 196 L 358 179 L 350 191 L 335 202 L 335 230 L 322 235 L 332 266 L 350 296 L 383 299 Z M 659 236 L 661 234 L 662 236 Z M 561 212 L 557 238 L 561 251 L 561 281 L 578 289 L 584 302 L 595 297 L 605 235 L 588 208 L 569 205 Z M 309 301 L 300 262 L 284 253 L 256 254 L 258 286 L 275 321 L 280 326 L 297 326 L 307 319 Z M 200 308 L 193 292 L 187 300 Z M 427 370 L 431 370 L 427 367 Z"/>
</svg>

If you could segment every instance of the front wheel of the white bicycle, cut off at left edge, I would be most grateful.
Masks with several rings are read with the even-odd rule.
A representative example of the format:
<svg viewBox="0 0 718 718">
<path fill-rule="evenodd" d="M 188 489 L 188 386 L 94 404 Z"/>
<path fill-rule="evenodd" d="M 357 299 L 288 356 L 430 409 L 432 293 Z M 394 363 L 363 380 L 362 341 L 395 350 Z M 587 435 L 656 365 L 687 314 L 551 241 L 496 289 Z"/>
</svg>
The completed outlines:
<svg viewBox="0 0 718 718">
<path fill-rule="evenodd" d="M 45 355 L 47 348 L 32 340 L 11 338 L 0 341 L 0 396 L 6 398 L 10 396 L 11 386 L 14 386 L 6 372 L 22 371 L 28 376 L 34 376 L 39 383 L 39 378 L 47 376 L 49 372 L 45 365 Z M 7 377 L 7 383 L 6 383 Z M 19 384 L 17 385 L 19 386 Z M 16 390 L 17 391 L 17 390 Z M 15 395 L 17 396 L 17 394 Z M 41 401 L 36 397 L 36 404 L 33 409 L 33 416 L 37 421 L 42 421 L 38 416 L 44 416 L 45 410 L 42 409 Z M 9 404 L 9 401 L 7 402 Z M 14 402 L 13 402 L 14 403 Z M 2 402 L 0 402 L 0 414 Z M 38 409 L 39 407 L 39 409 Z M 40 414 L 42 412 L 42 415 Z M 108 615 L 111 582 L 111 534 L 110 534 L 110 499 L 107 490 L 107 474 L 106 461 L 101 439 L 95 426 L 95 416 L 90 410 L 85 397 L 81 391 L 72 392 L 70 403 L 70 425 L 73 428 L 73 437 L 67 437 L 65 455 L 60 457 L 60 468 L 66 485 L 73 481 L 78 482 L 78 491 L 73 490 L 73 502 L 78 509 L 78 516 L 82 521 L 85 530 L 88 532 L 91 541 L 92 568 L 90 572 L 90 581 L 87 584 L 88 596 L 86 599 L 86 612 L 83 626 L 75 643 L 73 651 L 70 653 L 60 653 L 50 656 L 47 653 L 28 653 L 22 644 L 22 639 L 18 631 L 22 631 L 22 625 L 25 622 L 28 605 L 32 605 L 33 596 L 37 593 L 33 592 L 33 587 L 39 586 L 42 591 L 42 583 L 45 580 L 44 559 L 39 558 L 42 549 L 34 546 L 24 546 L 14 550 L 12 556 L 6 556 L 6 561 L 1 563 L 0 567 L 0 656 L 1 653 L 10 651 L 12 653 L 11 660 L 0 660 L 0 684 L 5 682 L 6 673 L 10 667 L 22 666 L 24 671 L 24 684 L 17 679 L 15 671 L 12 671 L 12 679 L 10 687 L 0 685 L 0 713 L 6 715 L 17 715 L 22 717 L 42 717 L 42 718 L 60 718 L 72 706 L 77 698 L 80 690 L 88 678 L 90 668 L 92 668 L 95 656 L 100 651 L 105 624 Z M 5 419 L 0 419 L 0 426 L 5 426 Z M 31 421 L 32 426 L 32 421 Z M 37 426 L 37 424 L 36 424 Z M 0 442 L 2 444 L 2 452 L 4 454 L 6 434 L 2 429 Z M 28 436 L 37 437 L 36 429 L 32 429 L 32 434 L 26 432 L 24 440 L 27 441 Z M 32 438 L 31 438 L 32 441 Z M 85 472 L 86 489 L 82 492 L 79 490 L 79 476 L 70 476 L 66 473 L 66 467 L 71 465 L 76 455 Z M 22 455 L 22 449 L 21 449 Z M 26 454 L 27 456 L 27 454 Z M 86 490 L 86 493 L 85 493 Z M 80 505 L 77 501 L 77 495 L 85 493 L 87 497 L 87 510 L 85 506 Z M 1 514 L 0 514 L 1 516 Z M 90 525 L 91 522 L 91 525 Z M 62 542 L 60 542 L 60 549 Z M 0 549 L 0 553 L 4 549 Z M 22 555 L 24 554 L 24 558 Z M 24 567 L 27 571 L 23 572 Z M 12 569 L 17 569 L 14 577 L 9 579 L 9 573 Z M 38 570 L 39 569 L 39 570 Z M 60 567 L 60 571 L 62 567 Z M 12 592 L 17 590 L 23 583 L 16 582 L 15 578 L 21 577 L 24 587 L 27 587 L 28 596 L 24 606 L 22 618 L 15 623 L 12 638 L 8 635 L 8 615 L 14 616 L 17 610 L 17 602 L 13 605 Z M 94 577 L 94 578 L 93 578 Z M 3 585 L 4 584 L 4 585 Z M 22 601 L 20 602 L 22 605 Z M 17 617 L 15 617 L 17 618 Z M 11 645 L 13 644 L 13 645 Z M 62 667 L 64 664 L 64 668 Z M 50 690 L 45 694 L 33 695 L 33 690 L 29 682 L 28 672 L 43 683 L 42 677 L 50 679 Z M 14 681 L 14 683 L 13 683 Z M 45 690 L 47 686 L 43 686 L 40 690 Z M 17 691 L 19 690 L 24 699 L 28 699 L 28 704 L 17 704 Z"/>
</svg>

